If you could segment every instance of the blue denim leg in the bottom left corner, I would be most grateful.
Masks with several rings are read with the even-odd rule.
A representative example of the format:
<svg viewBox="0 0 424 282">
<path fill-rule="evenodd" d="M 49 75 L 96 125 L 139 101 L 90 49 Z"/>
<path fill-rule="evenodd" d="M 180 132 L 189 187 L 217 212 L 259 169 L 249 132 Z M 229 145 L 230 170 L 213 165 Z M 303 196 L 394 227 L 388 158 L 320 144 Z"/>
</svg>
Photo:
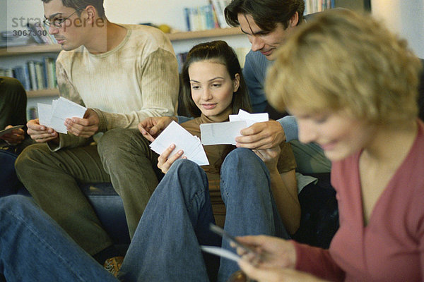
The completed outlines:
<svg viewBox="0 0 424 282">
<path fill-rule="evenodd" d="M 0 273 L 18 281 L 117 281 L 30 198 L 0 198 Z"/>
</svg>

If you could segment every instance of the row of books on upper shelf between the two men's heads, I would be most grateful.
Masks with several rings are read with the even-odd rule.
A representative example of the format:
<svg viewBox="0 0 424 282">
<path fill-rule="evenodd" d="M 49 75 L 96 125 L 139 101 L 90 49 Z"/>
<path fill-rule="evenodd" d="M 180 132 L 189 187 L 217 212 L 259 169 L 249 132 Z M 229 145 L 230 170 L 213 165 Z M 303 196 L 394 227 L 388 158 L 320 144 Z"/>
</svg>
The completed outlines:
<svg viewBox="0 0 424 282">
<path fill-rule="evenodd" d="M 228 27 L 224 8 L 230 4 L 230 0 L 209 0 L 209 2 L 208 5 L 184 8 L 188 31 Z"/>
</svg>

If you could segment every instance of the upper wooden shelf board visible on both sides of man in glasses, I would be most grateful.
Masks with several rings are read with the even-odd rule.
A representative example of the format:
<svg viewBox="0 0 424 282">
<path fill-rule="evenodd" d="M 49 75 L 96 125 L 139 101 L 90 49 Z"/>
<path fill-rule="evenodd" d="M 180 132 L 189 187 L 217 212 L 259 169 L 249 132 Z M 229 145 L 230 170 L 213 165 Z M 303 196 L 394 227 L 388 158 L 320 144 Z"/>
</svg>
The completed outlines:
<svg viewBox="0 0 424 282">
<path fill-rule="evenodd" d="M 220 37 L 230 35 L 242 35 L 240 27 L 217 28 L 214 30 L 201 30 L 192 32 L 175 32 L 168 33 L 167 37 L 171 41 L 179 41 L 186 39 L 197 39 L 206 37 Z M 59 44 L 33 44 L 17 47 L 0 48 L 0 57 L 17 56 L 25 54 L 40 54 L 40 53 L 59 53 L 61 47 Z"/>
</svg>

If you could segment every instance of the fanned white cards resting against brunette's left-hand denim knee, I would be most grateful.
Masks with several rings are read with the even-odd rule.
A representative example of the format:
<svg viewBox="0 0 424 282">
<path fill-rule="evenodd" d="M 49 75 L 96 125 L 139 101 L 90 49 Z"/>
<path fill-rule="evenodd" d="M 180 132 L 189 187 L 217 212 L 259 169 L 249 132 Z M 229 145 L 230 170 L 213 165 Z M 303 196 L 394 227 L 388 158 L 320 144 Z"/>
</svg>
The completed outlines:
<svg viewBox="0 0 424 282">
<path fill-rule="evenodd" d="M 199 164 L 199 166 L 206 166 L 209 164 L 206 152 L 201 145 L 199 137 L 193 136 L 175 121 L 172 121 L 172 123 L 151 142 L 150 147 L 156 153 L 162 154 L 171 144 L 175 144 L 175 149 L 170 154 L 170 157 L 177 154 L 177 152 L 182 149 L 184 154 L 182 154 L 181 157 L 185 156 L 187 159 Z"/>
</svg>

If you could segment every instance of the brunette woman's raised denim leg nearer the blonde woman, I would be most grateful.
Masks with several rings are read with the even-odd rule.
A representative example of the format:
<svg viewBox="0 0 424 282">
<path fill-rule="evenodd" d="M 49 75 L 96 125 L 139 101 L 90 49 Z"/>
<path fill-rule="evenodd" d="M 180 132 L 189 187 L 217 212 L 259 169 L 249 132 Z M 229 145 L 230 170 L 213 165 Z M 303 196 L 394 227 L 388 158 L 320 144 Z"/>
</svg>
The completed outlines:
<svg viewBox="0 0 424 282">
<path fill-rule="evenodd" d="M 225 203 L 225 231 L 239 235 L 271 235 L 289 239 L 271 192 L 271 178 L 264 161 L 250 149 L 235 149 L 225 158 L 220 171 L 220 192 Z M 231 249 L 228 241 L 223 247 Z M 236 262 L 222 258 L 218 281 L 239 269 Z"/>
</svg>

